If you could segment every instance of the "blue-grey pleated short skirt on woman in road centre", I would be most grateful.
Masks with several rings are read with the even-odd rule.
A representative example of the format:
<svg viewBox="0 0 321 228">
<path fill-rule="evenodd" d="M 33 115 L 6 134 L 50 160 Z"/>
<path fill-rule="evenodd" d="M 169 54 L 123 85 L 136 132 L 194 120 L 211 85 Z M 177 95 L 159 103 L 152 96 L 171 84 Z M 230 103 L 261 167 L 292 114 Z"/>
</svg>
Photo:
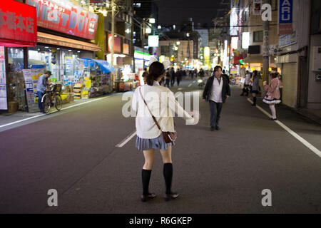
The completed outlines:
<svg viewBox="0 0 321 228">
<path fill-rule="evenodd" d="M 158 138 L 148 139 L 148 138 L 136 138 L 136 148 L 138 150 L 151 150 L 151 149 L 159 149 L 159 150 L 167 150 L 168 147 L 174 145 L 173 142 L 166 143 L 163 135 L 159 135 Z"/>
</svg>

